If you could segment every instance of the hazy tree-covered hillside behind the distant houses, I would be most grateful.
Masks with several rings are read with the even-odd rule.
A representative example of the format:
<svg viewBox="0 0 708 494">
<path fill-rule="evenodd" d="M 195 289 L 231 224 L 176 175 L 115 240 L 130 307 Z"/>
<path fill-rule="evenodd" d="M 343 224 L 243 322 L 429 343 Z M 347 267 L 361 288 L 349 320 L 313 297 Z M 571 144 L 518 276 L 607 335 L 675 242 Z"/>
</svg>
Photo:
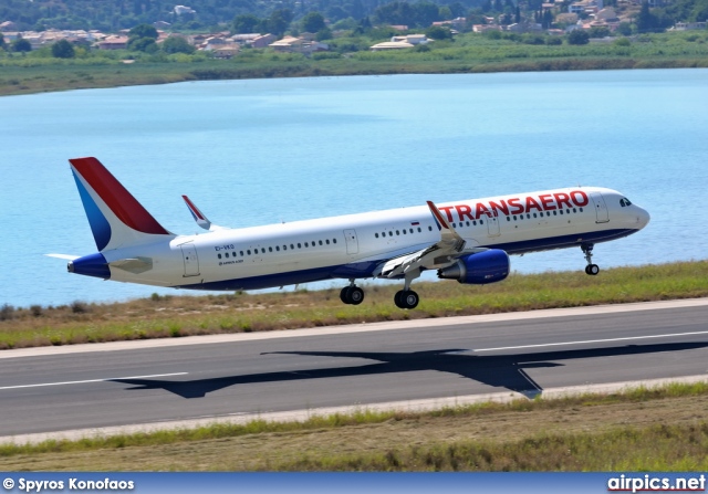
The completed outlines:
<svg viewBox="0 0 708 494">
<path fill-rule="evenodd" d="M 98 29 L 117 31 L 129 29 L 139 23 L 158 21 L 170 24 L 173 30 L 230 29 L 237 15 L 250 14 L 267 19 L 274 12 L 284 12 L 287 22 L 298 21 L 308 12 L 316 11 L 334 24 L 350 19 L 357 22 L 371 18 L 374 23 L 400 24 L 415 19 L 427 27 L 429 22 L 456 17 L 477 17 L 482 14 L 510 18 L 521 15 L 533 20 L 542 8 L 552 4 L 554 12 L 566 12 L 571 1 L 543 3 L 541 0 L 440 0 L 439 2 L 376 0 L 319 0 L 317 2 L 275 2 L 272 0 L 185 0 L 188 9 L 177 13 L 174 0 L 3 0 L 0 3 L 0 24 L 10 21 L 17 31 L 44 29 Z M 620 9 L 638 7 L 639 0 L 606 0 L 605 6 Z M 543 6 L 543 7 L 542 7 Z M 653 13 L 666 27 L 677 21 L 695 22 L 708 19 L 708 0 L 667 0 L 666 7 L 652 9 Z M 423 22 L 425 21 L 425 22 Z M 6 29 L 7 30 L 7 29 Z"/>
</svg>

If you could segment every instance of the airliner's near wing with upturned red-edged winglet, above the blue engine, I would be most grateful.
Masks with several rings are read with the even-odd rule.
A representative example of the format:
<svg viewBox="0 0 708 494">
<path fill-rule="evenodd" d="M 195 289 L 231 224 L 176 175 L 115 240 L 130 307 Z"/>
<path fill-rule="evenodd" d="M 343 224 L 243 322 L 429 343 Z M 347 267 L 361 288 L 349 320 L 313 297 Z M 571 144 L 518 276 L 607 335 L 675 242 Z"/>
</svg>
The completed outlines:
<svg viewBox="0 0 708 494">
<path fill-rule="evenodd" d="M 406 275 L 417 275 L 423 269 L 445 267 L 461 255 L 483 252 L 486 248 L 467 246 L 467 241 L 460 237 L 440 210 L 427 201 L 430 213 L 435 218 L 440 229 L 440 240 L 433 245 L 412 254 L 403 255 L 387 261 L 382 267 L 378 276 L 399 277 Z"/>
</svg>

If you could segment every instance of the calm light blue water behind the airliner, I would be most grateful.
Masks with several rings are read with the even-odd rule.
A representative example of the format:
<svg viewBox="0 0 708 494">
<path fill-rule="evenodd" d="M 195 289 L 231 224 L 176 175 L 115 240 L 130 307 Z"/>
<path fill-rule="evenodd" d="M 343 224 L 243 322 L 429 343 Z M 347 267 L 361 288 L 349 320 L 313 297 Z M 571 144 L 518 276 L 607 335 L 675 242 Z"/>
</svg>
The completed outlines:
<svg viewBox="0 0 708 494">
<path fill-rule="evenodd" d="M 246 227 L 580 183 L 618 189 L 653 218 L 597 245 L 601 267 L 705 259 L 707 90 L 708 70 L 656 70 L 2 97 L 0 304 L 175 293 L 70 275 L 42 255 L 95 250 L 66 161 L 80 156 L 98 157 L 180 233 L 198 230 L 183 193 L 215 223 Z M 512 257 L 512 267 L 582 270 L 584 260 L 580 249 L 556 251 Z"/>
</svg>

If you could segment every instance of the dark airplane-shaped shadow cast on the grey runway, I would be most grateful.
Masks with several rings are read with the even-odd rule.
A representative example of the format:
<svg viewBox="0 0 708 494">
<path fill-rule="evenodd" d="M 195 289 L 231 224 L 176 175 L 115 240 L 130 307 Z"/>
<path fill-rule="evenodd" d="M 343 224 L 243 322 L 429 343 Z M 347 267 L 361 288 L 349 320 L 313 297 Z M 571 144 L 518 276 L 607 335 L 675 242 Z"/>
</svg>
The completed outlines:
<svg viewBox="0 0 708 494">
<path fill-rule="evenodd" d="M 667 343 L 654 345 L 626 345 L 607 348 L 555 350 L 514 355 L 460 355 L 464 349 L 441 349 L 414 353 L 368 353 L 368 351 L 272 351 L 262 355 L 302 355 L 317 357 L 347 357 L 376 360 L 350 367 L 263 372 L 240 376 L 225 376 L 211 379 L 169 381 L 156 379 L 112 379 L 114 382 L 135 385 L 129 390 L 164 389 L 183 398 L 204 398 L 208 392 L 237 385 L 258 382 L 284 382 L 294 380 L 372 376 L 418 370 L 437 370 L 473 379 L 496 388 L 506 388 L 533 398 L 543 391 L 527 369 L 562 367 L 558 360 L 597 357 L 621 357 L 664 351 L 680 351 L 708 347 L 708 343 Z"/>
</svg>

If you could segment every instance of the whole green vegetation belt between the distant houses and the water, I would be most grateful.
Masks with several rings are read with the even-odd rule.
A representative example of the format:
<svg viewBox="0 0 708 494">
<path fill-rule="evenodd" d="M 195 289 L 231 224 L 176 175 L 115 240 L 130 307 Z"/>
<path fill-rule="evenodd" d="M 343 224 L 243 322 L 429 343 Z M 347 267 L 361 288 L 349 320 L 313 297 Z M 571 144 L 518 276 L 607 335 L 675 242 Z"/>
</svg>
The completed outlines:
<svg viewBox="0 0 708 494">
<path fill-rule="evenodd" d="M 582 45 L 556 44 L 560 39 L 553 36 L 497 34 L 470 33 L 455 42 L 436 41 L 425 51 L 377 53 L 367 49 L 382 38 L 337 38 L 331 41 L 331 52 L 311 57 L 244 49 L 231 60 L 215 60 L 205 52 L 184 53 L 171 43 L 169 53 L 155 51 L 148 36 L 134 38 L 133 46 L 145 51 L 76 48 L 73 57 L 55 57 L 45 48 L 0 54 L 0 95 L 196 80 L 708 66 L 705 32 L 646 34 L 628 44 L 626 39 Z"/>
</svg>

